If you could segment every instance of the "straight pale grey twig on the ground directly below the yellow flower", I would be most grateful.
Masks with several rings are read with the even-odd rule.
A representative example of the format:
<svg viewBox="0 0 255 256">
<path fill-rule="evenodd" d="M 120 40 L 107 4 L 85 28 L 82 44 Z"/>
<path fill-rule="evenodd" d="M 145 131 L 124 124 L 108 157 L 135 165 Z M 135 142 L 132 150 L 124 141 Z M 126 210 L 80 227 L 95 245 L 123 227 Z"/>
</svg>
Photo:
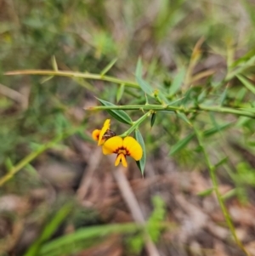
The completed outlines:
<svg viewBox="0 0 255 256">
<path fill-rule="evenodd" d="M 145 224 L 143 213 L 139 208 L 139 202 L 133 195 L 133 191 L 123 172 L 123 167 L 116 168 L 116 170 L 113 171 L 113 176 L 116 179 L 116 183 L 119 187 L 119 190 L 122 193 L 123 199 L 127 203 L 127 207 L 129 208 L 134 221 L 139 224 Z M 160 253 L 158 252 L 156 245 L 151 241 L 148 233 L 145 234 L 145 248 L 150 256 L 160 256 Z"/>
</svg>

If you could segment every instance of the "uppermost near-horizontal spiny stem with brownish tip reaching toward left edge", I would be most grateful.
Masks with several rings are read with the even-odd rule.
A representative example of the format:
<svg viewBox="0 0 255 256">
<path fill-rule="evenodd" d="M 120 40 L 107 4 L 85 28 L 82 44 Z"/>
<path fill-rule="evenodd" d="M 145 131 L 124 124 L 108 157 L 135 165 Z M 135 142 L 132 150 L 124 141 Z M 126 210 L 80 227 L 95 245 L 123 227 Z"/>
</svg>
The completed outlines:
<svg viewBox="0 0 255 256">
<path fill-rule="evenodd" d="M 41 76 L 59 76 L 59 77 L 75 77 L 75 78 L 85 78 L 93 80 L 101 80 L 107 82 L 115 82 L 118 84 L 124 83 L 125 86 L 131 88 L 140 88 L 139 84 L 136 82 L 125 81 L 115 77 L 102 76 L 98 74 L 91 73 L 81 73 L 81 72 L 72 72 L 72 71 L 50 71 L 50 70 L 26 70 L 26 71 L 8 71 L 4 73 L 7 76 L 16 76 L 16 75 L 41 75 Z"/>
</svg>

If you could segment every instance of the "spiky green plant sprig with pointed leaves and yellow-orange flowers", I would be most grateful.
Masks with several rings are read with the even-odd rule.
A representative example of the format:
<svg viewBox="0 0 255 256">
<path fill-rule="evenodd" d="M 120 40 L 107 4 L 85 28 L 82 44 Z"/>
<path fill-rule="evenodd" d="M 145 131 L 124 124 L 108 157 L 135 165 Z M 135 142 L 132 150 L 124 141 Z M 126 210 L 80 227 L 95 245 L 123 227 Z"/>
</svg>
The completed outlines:
<svg viewBox="0 0 255 256">
<path fill-rule="evenodd" d="M 176 117 L 176 120 L 184 122 L 189 133 L 184 136 L 183 139 L 178 139 L 175 144 L 171 145 L 169 155 L 173 156 L 178 153 L 178 151 L 183 150 L 190 141 L 195 140 L 196 137 L 198 146 L 202 148 L 202 153 L 206 158 L 205 162 L 207 168 L 211 174 L 213 184 L 212 191 L 216 192 L 226 223 L 229 225 L 229 230 L 234 236 L 238 246 L 248 255 L 235 235 L 234 225 L 232 224 L 229 213 L 224 206 L 224 201 L 218 191 L 215 168 L 218 168 L 219 165 L 212 166 L 202 139 L 212 136 L 213 134 L 222 133 L 224 130 L 233 127 L 233 123 L 237 122 L 236 119 L 240 120 L 239 118 L 246 118 L 244 119 L 245 121 L 242 120 L 242 122 L 247 122 L 247 120 L 254 121 L 255 107 L 252 97 L 255 94 L 255 90 L 251 80 L 247 77 L 245 72 L 255 64 L 255 56 L 248 55 L 247 58 L 242 57 L 241 60 L 237 60 L 233 63 L 228 62 L 228 72 L 226 77 L 217 84 L 214 83 L 212 85 L 211 83 L 209 86 L 193 86 L 192 84 L 196 79 L 212 77 L 213 75 L 212 71 L 196 74 L 195 76 L 192 75 L 193 68 L 200 59 L 199 53 L 200 44 L 196 45 L 194 48 L 190 65 L 188 65 L 187 68 L 184 66 L 181 67 L 168 87 L 164 85 L 152 87 L 149 82 L 145 81 L 143 77 L 143 65 L 140 59 L 135 71 L 136 82 L 106 76 L 106 73 L 110 71 L 116 60 L 111 61 L 100 74 L 59 71 L 57 63 L 54 61 L 54 71 L 9 71 L 6 75 L 41 75 L 48 76 L 47 79 L 51 79 L 54 76 L 61 76 L 70 77 L 72 79 L 84 78 L 113 82 L 119 85 L 116 92 L 116 101 L 118 102 L 122 100 L 125 91 L 127 94 L 132 94 L 133 104 L 115 105 L 110 101 L 98 98 L 101 105 L 88 107 L 86 108 L 86 111 L 107 111 L 114 119 L 116 119 L 116 121 L 125 123 L 129 126 L 123 134 L 116 135 L 115 133 L 111 134 L 110 122 L 106 122 L 103 128 L 94 131 L 93 137 L 98 141 L 99 145 L 102 145 L 104 154 L 116 153 L 115 165 L 122 162 L 124 166 L 127 166 L 127 151 L 132 151 L 131 147 L 134 147 L 135 151 L 132 151 L 131 153 L 129 152 L 129 155 L 133 156 L 137 161 L 142 174 L 144 174 L 146 162 L 145 143 L 141 128 L 142 123 L 150 118 L 150 126 L 153 127 L 159 112 L 162 113 L 160 122 L 164 127 L 169 128 L 172 125 L 172 123 L 170 123 L 171 119 L 167 119 L 169 117 L 167 114 L 172 114 L 172 117 Z M 235 92 L 235 97 L 233 98 L 233 96 L 229 94 L 229 84 L 235 77 L 239 81 L 239 88 L 237 92 Z M 130 92 L 130 90 L 135 90 L 135 93 Z M 244 100 L 245 94 L 250 94 L 251 101 L 249 104 L 247 104 L 247 100 Z M 133 118 L 127 114 L 127 111 L 135 111 L 136 115 L 139 115 L 142 112 L 143 115 L 139 115 L 139 118 L 136 121 L 133 121 Z M 212 114 L 216 118 L 232 115 L 235 116 L 236 119 L 234 121 L 229 120 L 228 122 L 223 123 L 213 121 L 213 126 L 211 128 L 203 128 L 203 123 L 205 123 L 208 120 L 208 117 Z M 221 119 L 228 120 L 227 118 Z M 132 133 L 134 133 L 134 138 L 130 136 Z M 40 152 L 41 151 L 39 151 L 39 153 Z M 30 162 L 32 159 L 33 157 L 28 158 L 26 163 Z M 18 164 L 18 170 L 26 165 L 26 163 L 23 164 L 23 162 L 21 167 L 20 164 Z M 14 167 L 14 173 L 16 172 L 17 167 Z M 3 185 L 8 179 L 4 179 L 3 177 L 2 180 Z"/>
</svg>

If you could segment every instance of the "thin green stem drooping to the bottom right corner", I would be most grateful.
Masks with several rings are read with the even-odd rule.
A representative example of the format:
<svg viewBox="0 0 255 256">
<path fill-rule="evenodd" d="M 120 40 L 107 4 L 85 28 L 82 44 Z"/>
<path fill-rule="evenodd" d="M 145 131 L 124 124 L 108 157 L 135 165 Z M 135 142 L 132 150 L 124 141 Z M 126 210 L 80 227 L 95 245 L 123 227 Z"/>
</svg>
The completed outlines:
<svg viewBox="0 0 255 256">
<path fill-rule="evenodd" d="M 227 208 L 224 205 L 224 201 L 222 199 L 222 196 L 220 195 L 220 193 L 218 191 L 218 181 L 217 181 L 217 178 L 216 178 L 216 175 L 215 175 L 215 169 L 216 168 L 215 168 L 215 166 L 212 165 L 212 163 L 211 163 L 211 161 L 209 159 L 209 156 L 207 154 L 206 148 L 205 148 L 205 146 L 203 144 L 202 135 L 199 132 L 199 130 L 197 128 L 195 128 L 194 124 L 193 124 L 193 128 L 194 128 L 194 131 L 195 131 L 195 134 L 196 134 L 196 138 L 198 140 L 198 144 L 200 145 L 201 151 L 203 152 L 203 155 L 205 157 L 205 161 L 207 163 L 207 168 L 209 169 L 210 177 L 212 179 L 213 190 L 216 193 L 216 196 L 217 196 L 217 199 L 218 199 L 218 203 L 220 205 L 220 208 L 221 208 L 222 212 L 224 213 L 224 218 L 226 220 L 227 225 L 229 226 L 229 230 L 230 230 L 232 236 L 234 237 L 236 244 L 241 248 L 241 250 L 244 253 L 246 253 L 246 255 L 249 256 L 250 254 L 246 251 L 246 248 L 243 246 L 243 244 L 241 243 L 239 238 L 236 236 L 235 226 L 233 225 L 232 220 L 231 220 L 231 218 L 229 216 L 228 210 L 227 210 Z"/>
</svg>

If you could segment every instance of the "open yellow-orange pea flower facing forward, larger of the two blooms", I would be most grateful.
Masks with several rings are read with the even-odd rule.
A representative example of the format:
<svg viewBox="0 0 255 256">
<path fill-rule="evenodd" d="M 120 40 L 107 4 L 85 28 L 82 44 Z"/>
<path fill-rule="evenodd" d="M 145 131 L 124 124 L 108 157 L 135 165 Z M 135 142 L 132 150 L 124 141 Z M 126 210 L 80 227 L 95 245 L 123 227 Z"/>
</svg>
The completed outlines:
<svg viewBox="0 0 255 256">
<path fill-rule="evenodd" d="M 126 156 L 131 156 L 136 161 L 139 161 L 143 156 L 141 145 L 137 140 L 129 136 L 124 139 L 119 136 L 107 139 L 103 145 L 103 153 L 105 155 L 117 154 L 115 166 L 122 162 L 124 167 L 127 167 Z"/>
</svg>

